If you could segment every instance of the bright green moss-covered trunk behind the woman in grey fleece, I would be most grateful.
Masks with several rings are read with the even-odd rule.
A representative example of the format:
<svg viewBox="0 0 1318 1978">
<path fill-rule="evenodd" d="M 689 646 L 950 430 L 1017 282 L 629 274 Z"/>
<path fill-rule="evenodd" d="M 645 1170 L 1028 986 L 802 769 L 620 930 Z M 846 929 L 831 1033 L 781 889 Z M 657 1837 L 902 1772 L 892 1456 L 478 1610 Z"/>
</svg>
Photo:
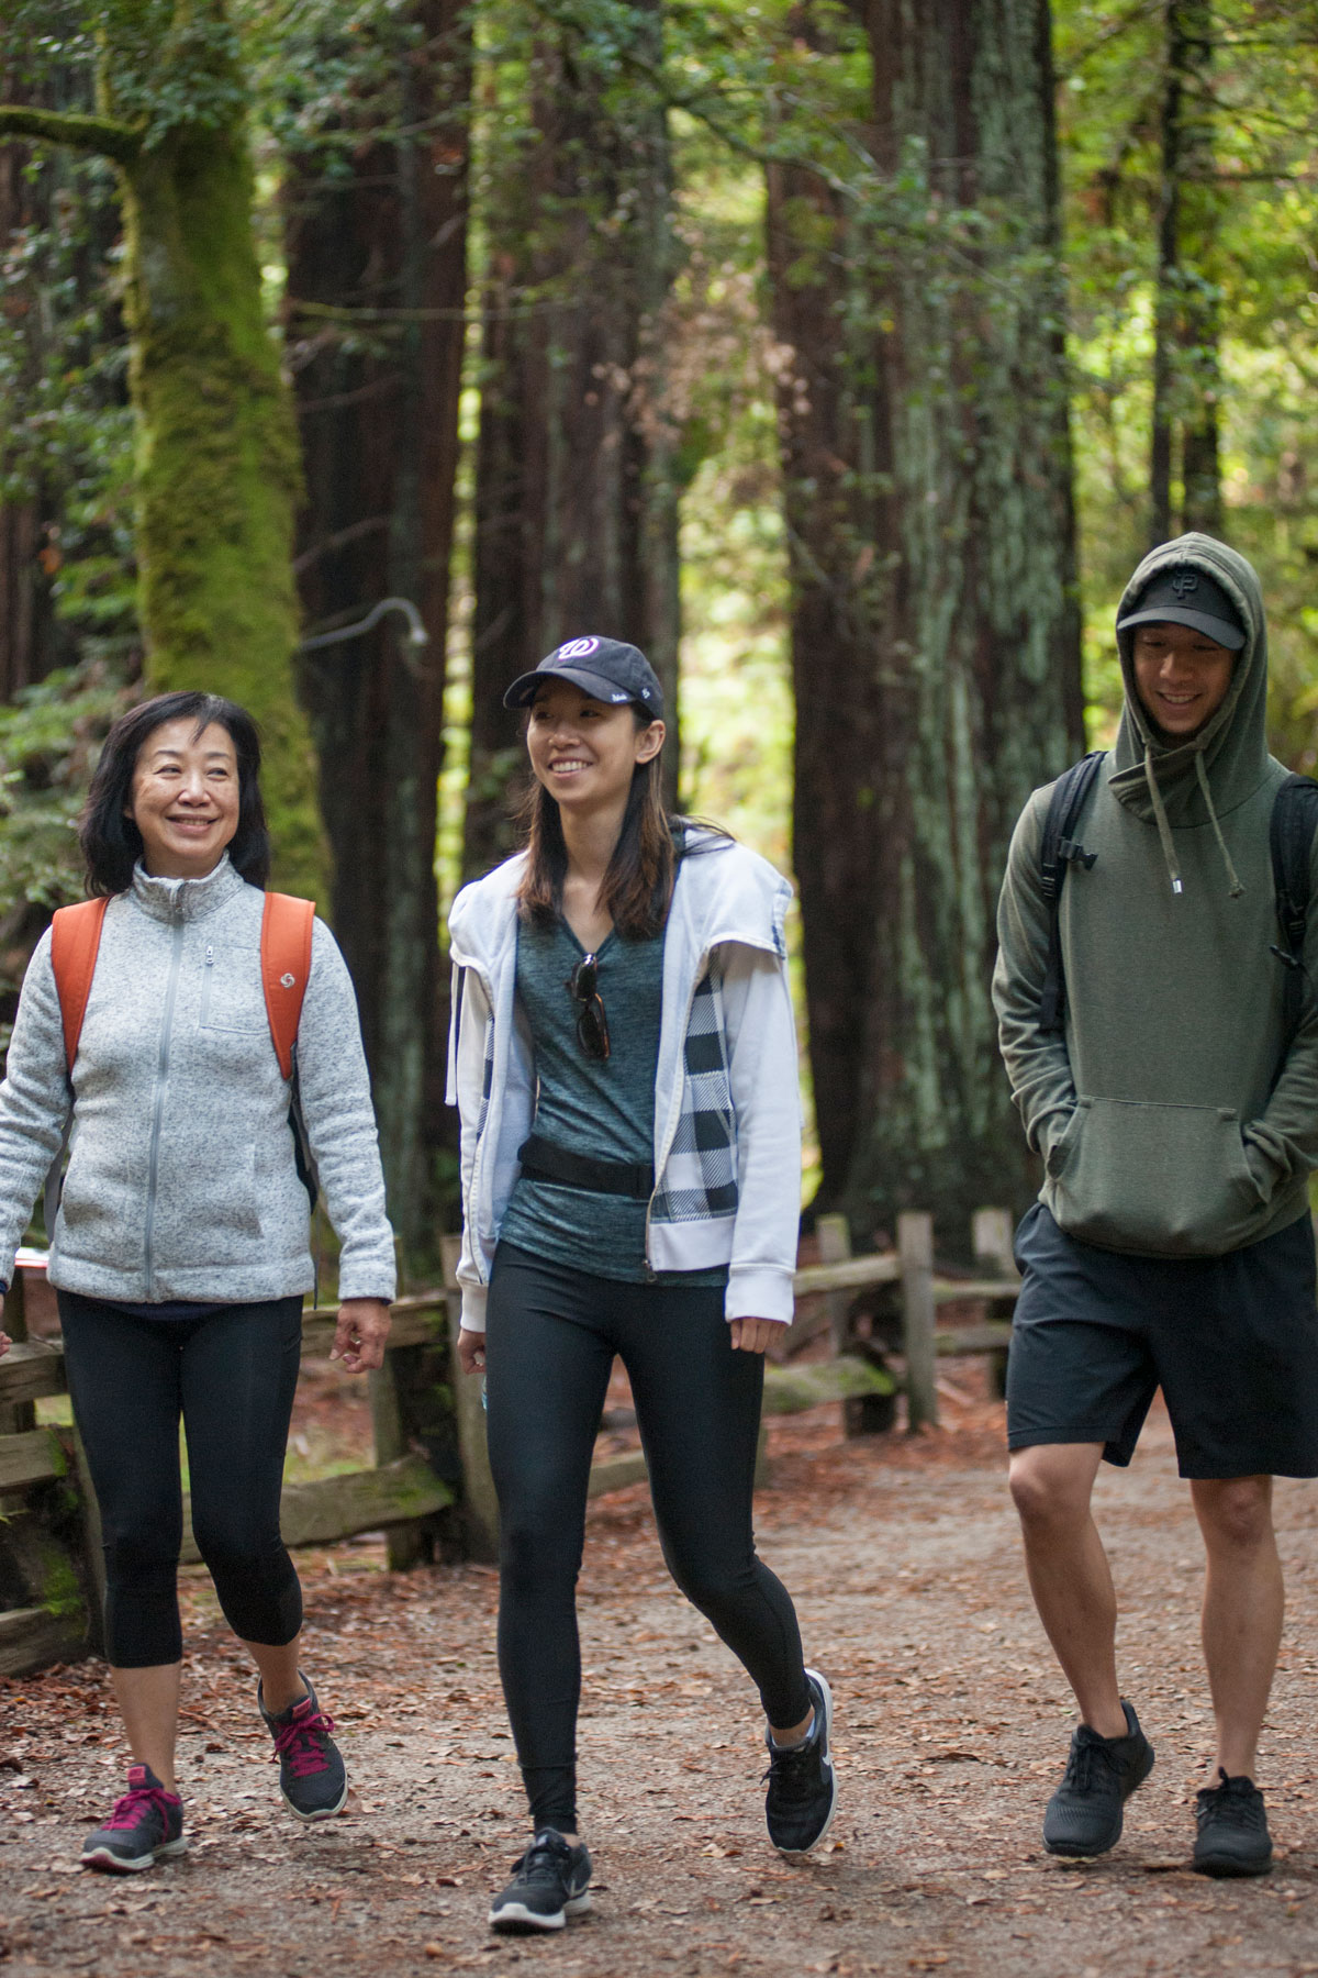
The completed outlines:
<svg viewBox="0 0 1318 1978">
<path fill-rule="evenodd" d="M 0 136 L 121 170 L 138 413 L 146 684 L 241 700 L 267 752 L 275 882 L 324 898 L 310 736 L 292 686 L 292 396 L 261 299 L 247 91 L 223 0 L 109 0 L 97 117 L 0 107 Z"/>
</svg>

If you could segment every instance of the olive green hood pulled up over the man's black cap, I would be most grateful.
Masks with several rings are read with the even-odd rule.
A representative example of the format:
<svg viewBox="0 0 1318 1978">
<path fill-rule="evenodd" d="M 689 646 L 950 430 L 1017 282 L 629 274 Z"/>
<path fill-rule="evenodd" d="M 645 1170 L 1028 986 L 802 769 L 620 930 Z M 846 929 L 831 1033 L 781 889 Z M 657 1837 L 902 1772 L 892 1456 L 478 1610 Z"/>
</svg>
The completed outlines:
<svg viewBox="0 0 1318 1978">
<path fill-rule="evenodd" d="M 1170 825 L 1211 825 L 1213 813 L 1225 817 L 1235 811 L 1253 797 L 1269 773 L 1269 641 L 1263 591 L 1253 564 L 1225 542 L 1192 532 L 1150 550 L 1126 584 L 1116 617 L 1134 609 L 1150 578 L 1176 564 L 1192 564 L 1221 584 L 1241 613 L 1245 645 L 1237 655 L 1227 698 L 1213 718 L 1190 740 L 1168 740 L 1150 722 L 1134 684 L 1134 627 L 1116 633 L 1126 704 L 1116 730 L 1109 783 L 1112 795 L 1144 823 L 1158 823 L 1152 779 Z"/>
</svg>

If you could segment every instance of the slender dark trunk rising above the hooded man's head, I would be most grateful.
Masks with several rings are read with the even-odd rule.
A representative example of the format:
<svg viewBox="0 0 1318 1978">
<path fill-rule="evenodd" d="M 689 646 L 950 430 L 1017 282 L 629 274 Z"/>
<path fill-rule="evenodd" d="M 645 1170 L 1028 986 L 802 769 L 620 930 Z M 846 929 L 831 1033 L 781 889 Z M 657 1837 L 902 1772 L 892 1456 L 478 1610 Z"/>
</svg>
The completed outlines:
<svg viewBox="0 0 1318 1978">
<path fill-rule="evenodd" d="M 1168 0 L 1150 439 L 1154 546 L 1186 528 L 1221 534 L 1221 301 L 1213 271 L 1221 190 L 1213 176 L 1211 67 L 1209 0 Z"/>
</svg>

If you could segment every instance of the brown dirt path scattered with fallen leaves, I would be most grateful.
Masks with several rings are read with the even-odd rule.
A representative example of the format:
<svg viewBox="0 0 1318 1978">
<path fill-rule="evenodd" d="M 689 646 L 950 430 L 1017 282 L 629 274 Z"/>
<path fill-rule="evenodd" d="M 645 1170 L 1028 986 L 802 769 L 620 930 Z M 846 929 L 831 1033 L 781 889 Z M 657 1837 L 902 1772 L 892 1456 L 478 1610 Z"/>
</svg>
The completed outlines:
<svg viewBox="0 0 1318 1978">
<path fill-rule="evenodd" d="M 200 1569 L 184 1576 L 182 1861 L 77 1871 L 124 1768 L 101 1663 L 0 1683 L 0 1978 L 1318 1972 L 1314 1493 L 1278 1485 L 1290 1608 L 1261 1772 L 1278 1863 L 1211 1883 L 1188 1871 L 1211 1717 L 1166 1418 L 1128 1474 L 1105 1472 L 1124 1685 L 1158 1766 L 1120 1845 L 1065 1865 L 1039 1818 L 1071 1707 L 1026 1592 L 1002 1410 L 956 1383 L 948 1426 L 923 1438 L 844 1442 L 836 1408 L 771 1430 L 761 1547 L 836 1695 L 842 1800 L 816 1857 L 767 1845 L 747 1681 L 672 1590 L 638 1487 L 591 1507 L 581 1580 L 591 1915 L 553 1938 L 486 1931 L 524 1845 L 494 1573 L 389 1574 L 358 1543 L 300 1555 L 306 1660 L 356 1782 L 340 1820 L 283 1810 Z"/>
</svg>

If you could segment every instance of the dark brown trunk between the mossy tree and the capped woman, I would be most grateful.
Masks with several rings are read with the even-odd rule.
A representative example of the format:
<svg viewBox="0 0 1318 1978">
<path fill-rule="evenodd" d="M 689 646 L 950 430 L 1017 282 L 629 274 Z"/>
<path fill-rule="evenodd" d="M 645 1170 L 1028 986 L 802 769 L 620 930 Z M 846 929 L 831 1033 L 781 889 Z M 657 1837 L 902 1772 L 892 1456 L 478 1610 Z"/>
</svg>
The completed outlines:
<svg viewBox="0 0 1318 1978">
<path fill-rule="evenodd" d="M 362 28 L 362 24 L 360 24 Z M 334 45 L 320 47 L 334 59 Z M 354 49 L 368 67 L 362 34 Z M 308 631 L 407 597 L 352 643 L 314 649 L 302 686 L 334 854 L 334 930 L 371 1064 L 393 1226 L 427 1232 L 443 1122 L 437 783 L 466 287 L 470 40 L 462 0 L 373 20 L 356 93 L 300 105 L 287 188 L 290 360 L 306 465 L 298 589 Z"/>
</svg>

